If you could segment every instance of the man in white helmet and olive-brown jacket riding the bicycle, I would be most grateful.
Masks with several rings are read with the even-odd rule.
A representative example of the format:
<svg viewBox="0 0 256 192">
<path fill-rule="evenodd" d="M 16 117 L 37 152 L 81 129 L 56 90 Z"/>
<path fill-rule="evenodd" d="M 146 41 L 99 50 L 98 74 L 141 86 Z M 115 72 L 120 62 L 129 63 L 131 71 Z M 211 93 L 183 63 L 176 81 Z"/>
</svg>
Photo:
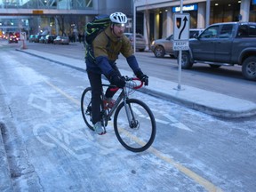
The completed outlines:
<svg viewBox="0 0 256 192">
<path fill-rule="evenodd" d="M 148 76 L 143 74 L 139 64 L 133 55 L 132 44 L 124 36 L 125 24 L 127 17 L 122 12 L 110 14 L 111 24 L 104 29 L 92 42 L 92 58 L 89 54 L 85 55 L 86 71 L 92 87 L 92 124 L 94 131 L 98 134 L 104 134 L 104 128 L 100 119 L 100 93 L 102 89 L 101 74 L 108 78 L 111 84 L 119 88 L 125 85 L 124 78 L 121 76 L 116 67 L 118 54 L 121 52 L 126 58 L 133 73 L 140 78 L 145 85 L 148 85 Z M 105 93 L 106 102 L 113 106 L 115 100 L 112 100 L 116 92 L 108 89 Z"/>
</svg>

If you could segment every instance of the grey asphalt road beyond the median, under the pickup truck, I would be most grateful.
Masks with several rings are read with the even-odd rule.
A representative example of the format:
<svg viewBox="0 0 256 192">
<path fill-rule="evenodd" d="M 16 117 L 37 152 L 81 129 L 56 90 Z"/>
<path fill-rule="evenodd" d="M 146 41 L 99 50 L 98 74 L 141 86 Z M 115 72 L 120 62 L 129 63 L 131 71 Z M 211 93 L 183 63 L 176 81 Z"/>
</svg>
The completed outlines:
<svg viewBox="0 0 256 192">
<path fill-rule="evenodd" d="M 28 43 L 28 49 L 35 49 L 42 52 L 51 52 L 75 59 L 84 60 L 83 44 L 53 45 Z M 156 58 L 153 52 L 136 52 L 140 68 L 150 76 L 158 76 L 164 80 L 176 82 L 178 85 L 178 65 L 176 59 L 169 56 Z M 120 59 L 124 59 L 120 55 Z M 118 61 L 117 61 L 118 65 Z M 129 69 L 129 66 L 119 68 Z M 182 84 L 194 86 L 212 92 L 220 92 L 243 100 L 250 100 L 256 103 L 256 82 L 245 80 L 241 73 L 240 66 L 225 66 L 221 68 L 210 68 L 209 65 L 195 64 L 189 70 L 181 71 Z"/>
</svg>

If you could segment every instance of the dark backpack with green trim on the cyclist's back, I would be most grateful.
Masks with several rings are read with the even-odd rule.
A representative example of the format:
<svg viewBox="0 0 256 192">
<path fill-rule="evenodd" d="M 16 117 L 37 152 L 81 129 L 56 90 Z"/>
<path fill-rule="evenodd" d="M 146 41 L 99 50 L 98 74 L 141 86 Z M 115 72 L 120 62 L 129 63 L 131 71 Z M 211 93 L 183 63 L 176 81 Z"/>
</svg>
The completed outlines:
<svg viewBox="0 0 256 192">
<path fill-rule="evenodd" d="M 99 15 L 86 24 L 84 32 L 85 57 L 90 56 L 94 60 L 92 42 L 101 31 L 108 28 L 110 23 L 109 15 Z"/>
</svg>

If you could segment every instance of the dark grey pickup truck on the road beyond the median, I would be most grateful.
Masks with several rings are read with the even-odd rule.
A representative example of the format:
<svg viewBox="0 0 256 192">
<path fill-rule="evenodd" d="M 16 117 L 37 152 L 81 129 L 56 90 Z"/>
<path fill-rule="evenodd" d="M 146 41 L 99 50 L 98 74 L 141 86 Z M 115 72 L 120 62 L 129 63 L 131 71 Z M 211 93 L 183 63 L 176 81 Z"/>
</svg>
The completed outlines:
<svg viewBox="0 0 256 192">
<path fill-rule="evenodd" d="M 244 78 L 256 80 L 256 23 L 212 24 L 189 40 L 189 51 L 182 52 L 181 67 L 206 63 L 212 68 L 241 65 Z"/>
</svg>

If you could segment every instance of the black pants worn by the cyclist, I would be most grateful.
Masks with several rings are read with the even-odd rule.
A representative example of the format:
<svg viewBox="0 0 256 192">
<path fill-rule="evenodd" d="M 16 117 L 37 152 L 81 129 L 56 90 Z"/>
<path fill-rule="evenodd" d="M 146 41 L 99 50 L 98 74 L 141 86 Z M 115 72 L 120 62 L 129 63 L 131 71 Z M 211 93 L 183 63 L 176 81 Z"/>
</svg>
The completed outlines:
<svg viewBox="0 0 256 192">
<path fill-rule="evenodd" d="M 119 72 L 118 68 L 115 68 L 116 72 Z M 101 103 L 101 91 L 102 91 L 102 82 L 101 75 L 93 72 L 87 72 L 90 84 L 92 87 L 92 124 L 96 124 L 101 120 L 100 117 L 100 103 Z M 110 91 L 110 88 L 107 89 L 105 97 L 112 98 L 116 92 Z"/>
</svg>

